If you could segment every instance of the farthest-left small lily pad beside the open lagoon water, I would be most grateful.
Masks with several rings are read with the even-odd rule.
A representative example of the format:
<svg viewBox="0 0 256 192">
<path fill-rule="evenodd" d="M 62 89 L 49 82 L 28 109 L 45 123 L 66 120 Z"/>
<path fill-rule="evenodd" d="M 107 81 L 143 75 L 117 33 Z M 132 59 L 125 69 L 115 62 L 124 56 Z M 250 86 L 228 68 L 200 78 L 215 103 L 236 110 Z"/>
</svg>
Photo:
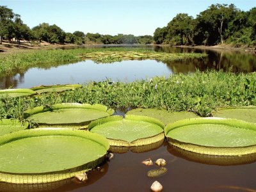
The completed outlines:
<svg viewBox="0 0 256 192">
<path fill-rule="evenodd" d="M 36 92 L 29 89 L 8 89 L 0 90 L 0 97 L 21 97 L 35 95 Z"/>
</svg>

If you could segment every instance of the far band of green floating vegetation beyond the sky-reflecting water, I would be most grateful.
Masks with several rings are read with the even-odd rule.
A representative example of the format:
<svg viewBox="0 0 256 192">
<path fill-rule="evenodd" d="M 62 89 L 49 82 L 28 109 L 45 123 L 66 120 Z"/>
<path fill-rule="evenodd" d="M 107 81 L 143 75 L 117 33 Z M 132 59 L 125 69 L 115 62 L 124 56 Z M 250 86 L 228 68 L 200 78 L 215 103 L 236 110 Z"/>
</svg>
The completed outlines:
<svg viewBox="0 0 256 192">
<path fill-rule="evenodd" d="M 14 54 L 4 54 L 1 56 L 0 60 L 0 74 L 1 75 L 10 75 L 15 74 L 15 72 L 24 72 L 31 67 L 52 67 L 55 65 L 60 65 L 63 63 L 70 63 L 75 61 L 84 60 L 83 55 L 91 53 L 91 57 L 96 52 L 104 52 L 106 53 L 105 58 L 102 56 L 100 58 L 94 58 L 95 61 L 100 62 L 108 62 L 108 61 L 119 61 L 120 57 L 112 56 L 113 52 L 136 52 L 136 54 L 140 54 L 141 57 L 144 57 L 143 54 L 156 54 L 158 60 L 185 60 L 186 58 L 202 58 L 206 56 L 206 54 L 166 54 L 164 52 L 154 52 L 148 51 L 147 49 L 139 49 L 139 48 L 101 48 L 101 49 L 65 49 L 65 50 L 40 50 L 40 51 L 29 51 L 29 52 L 17 52 Z M 0 76 L 1 76 L 0 75 Z"/>
</svg>

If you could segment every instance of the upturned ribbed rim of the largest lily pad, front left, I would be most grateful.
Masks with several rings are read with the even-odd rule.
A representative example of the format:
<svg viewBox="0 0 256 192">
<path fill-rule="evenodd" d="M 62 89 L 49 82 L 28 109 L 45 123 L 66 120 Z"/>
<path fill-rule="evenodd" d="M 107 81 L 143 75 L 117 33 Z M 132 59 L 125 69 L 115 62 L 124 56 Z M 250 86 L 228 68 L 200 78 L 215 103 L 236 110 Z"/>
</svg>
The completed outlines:
<svg viewBox="0 0 256 192">
<path fill-rule="evenodd" d="M 88 131 L 60 129 L 60 128 L 38 128 L 38 129 L 27 129 L 19 132 L 13 132 L 0 137 L 0 145 L 16 141 L 24 138 L 37 138 L 45 136 L 74 136 L 77 138 L 84 138 L 86 140 L 92 140 L 93 142 L 99 143 L 106 152 L 109 150 L 109 142 L 106 138 L 100 134 L 95 134 Z M 65 150 L 65 149 L 64 149 Z M 106 153 L 105 153 L 106 154 Z M 33 184 L 33 183 L 45 183 L 54 182 L 58 180 L 64 180 L 74 177 L 77 173 L 84 173 L 92 168 L 95 168 L 98 164 L 102 163 L 106 156 L 102 154 L 97 159 L 90 162 L 85 162 L 76 167 L 65 168 L 65 170 L 41 172 L 41 173 L 13 173 L 13 172 L 1 172 L 0 171 L 0 182 L 10 182 L 17 184 Z"/>
</svg>

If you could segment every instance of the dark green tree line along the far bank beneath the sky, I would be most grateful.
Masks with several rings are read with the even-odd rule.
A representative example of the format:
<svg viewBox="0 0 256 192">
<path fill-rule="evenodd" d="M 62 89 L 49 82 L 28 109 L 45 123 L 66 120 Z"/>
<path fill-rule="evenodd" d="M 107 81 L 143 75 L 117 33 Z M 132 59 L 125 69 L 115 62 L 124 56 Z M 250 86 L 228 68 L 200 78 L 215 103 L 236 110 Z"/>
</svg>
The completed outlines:
<svg viewBox="0 0 256 192">
<path fill-rule="evenodd" d="M 179 13 L 167 26 L 157 28 L 154 36 L 100 35 L 75 31 L 66 33 L 59 26 L 47 23 L 30 29 L 12 9 L 0 6 L 0 44 L 15 38 L 28 42 L 42 41 L 51 44 L 169 44 L 169 45 L 218 45 L 236 47 L 256 46 L 256 7 L 248 12 L 234 4 L 212 4 L 194 19 Z"/>
</svg>

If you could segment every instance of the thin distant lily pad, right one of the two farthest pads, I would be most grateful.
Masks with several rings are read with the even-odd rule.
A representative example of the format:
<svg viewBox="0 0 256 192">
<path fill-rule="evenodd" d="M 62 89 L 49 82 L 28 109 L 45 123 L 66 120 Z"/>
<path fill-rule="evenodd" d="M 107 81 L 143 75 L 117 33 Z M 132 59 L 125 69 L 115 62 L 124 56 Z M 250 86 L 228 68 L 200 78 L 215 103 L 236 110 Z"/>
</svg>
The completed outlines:
<svg viewBox="0 0 256 192">
<path fill-rule="evenodd" d="M 54 85 L 40 85 L 34 86 L 31 90 L 36 93 L 47 93 L 47 92 L 64 92 L 66 90 L 75 90 L 76 88 L 81 88 L 80 84 L 54 84 Z"/>
</svg>

